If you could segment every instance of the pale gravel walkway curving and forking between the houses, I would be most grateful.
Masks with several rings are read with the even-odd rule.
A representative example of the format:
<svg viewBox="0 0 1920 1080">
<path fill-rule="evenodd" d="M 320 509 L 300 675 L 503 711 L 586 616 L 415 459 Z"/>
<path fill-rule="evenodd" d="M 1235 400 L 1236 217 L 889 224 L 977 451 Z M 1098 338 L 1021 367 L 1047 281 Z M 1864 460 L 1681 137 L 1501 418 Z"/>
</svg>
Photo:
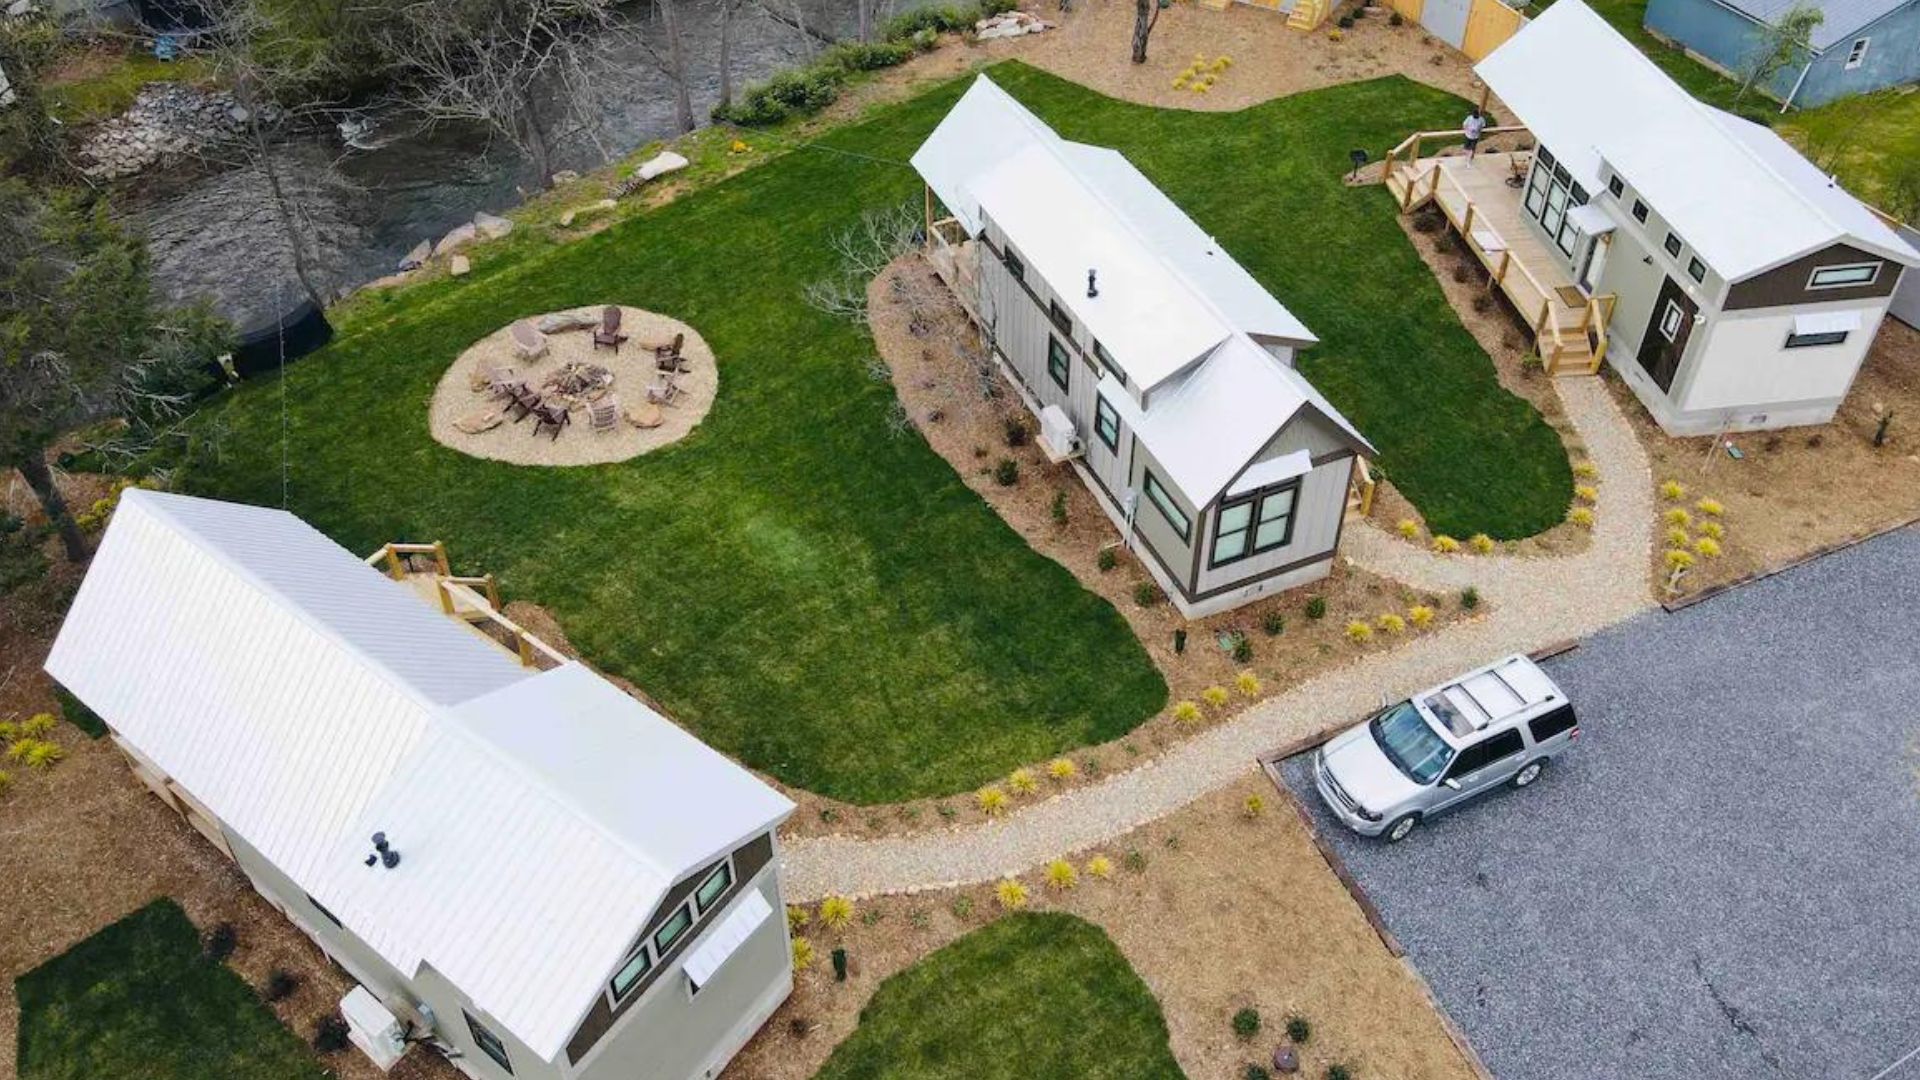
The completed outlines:
<svg viewBox="0 0 1920 1080">
<path fill-rule="evenodd" d="M 1382 694 L 1409 694 L 1486 659 L 1586 636 L 1649 607 L 1647 546 L 1653 484 L 1647 459 L 1597 379 L 1555 384 L 1578 438 L 1601 473 L 1594 546 L 1580 555 L 1432 555 L 1369 525 L 1350 527 L 1357 565 L 1427 590 L 1473 584 L 1488 613 L 1404 648 L 1373 653 L 1277 694 L 1127 773 L 1035 803 L 1006 819 L 860 840 L 801 838 L 785 846 L 793 901 L 874 896 L 993 880 L 1106 844 L 1252 771 L 1254 757 L 1357 719 Z"/>
</svg>

